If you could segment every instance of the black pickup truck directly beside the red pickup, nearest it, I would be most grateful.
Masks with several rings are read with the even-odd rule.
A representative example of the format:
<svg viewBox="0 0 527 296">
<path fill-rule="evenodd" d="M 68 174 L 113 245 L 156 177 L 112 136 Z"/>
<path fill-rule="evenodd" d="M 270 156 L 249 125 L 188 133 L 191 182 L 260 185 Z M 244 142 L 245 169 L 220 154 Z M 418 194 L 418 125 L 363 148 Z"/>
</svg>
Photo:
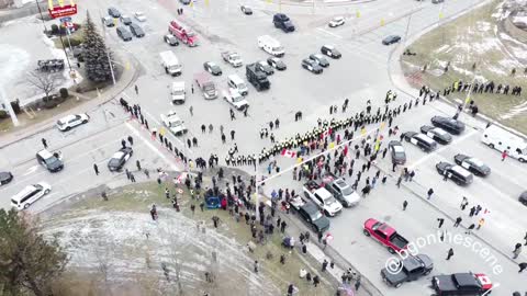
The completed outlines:
<svg viewBox="0 0 527 296">
<path fill-rule="evenodd" d="M 399 264 L 402 265 L 399 265 L 394 271 L 386 267 L 381 270 L 384 283 L 396 288 L 404 282 L 416 281 L 424 275 L 428 275 L 434 269 L 431 259 L 426 254 L 410 255 L 399 261 Z"/>
</svg>

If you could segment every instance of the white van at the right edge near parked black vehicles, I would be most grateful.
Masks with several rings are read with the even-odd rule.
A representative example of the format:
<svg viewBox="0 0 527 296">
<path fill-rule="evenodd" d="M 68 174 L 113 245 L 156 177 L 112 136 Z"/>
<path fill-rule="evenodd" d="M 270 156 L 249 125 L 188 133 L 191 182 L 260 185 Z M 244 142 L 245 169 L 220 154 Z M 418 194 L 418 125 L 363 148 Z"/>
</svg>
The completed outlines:
<svg viewBox="0 0 527 296">
<path fill-rule="evenodd" d="M 511 132 L 491 125 L 483 130 L 481 141 L 500 152 L 507 150 L 509 157 L 520 162 L 527 161 L 527 141 Z"/>
</svg>

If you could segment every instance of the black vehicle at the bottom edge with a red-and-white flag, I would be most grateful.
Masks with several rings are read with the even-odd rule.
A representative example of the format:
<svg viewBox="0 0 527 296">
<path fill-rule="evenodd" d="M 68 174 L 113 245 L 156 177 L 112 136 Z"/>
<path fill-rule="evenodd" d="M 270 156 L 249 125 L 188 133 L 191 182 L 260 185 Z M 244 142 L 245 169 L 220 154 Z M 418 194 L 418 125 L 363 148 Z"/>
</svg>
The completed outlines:
<svg viewBox="0 0 527 296">
<path fill-rule="evenodd" d="M 431 277 L 437 295 L 483 295 L 492 288 L 492 282 L 484 274 L 455 273 Z"/>
</svg>

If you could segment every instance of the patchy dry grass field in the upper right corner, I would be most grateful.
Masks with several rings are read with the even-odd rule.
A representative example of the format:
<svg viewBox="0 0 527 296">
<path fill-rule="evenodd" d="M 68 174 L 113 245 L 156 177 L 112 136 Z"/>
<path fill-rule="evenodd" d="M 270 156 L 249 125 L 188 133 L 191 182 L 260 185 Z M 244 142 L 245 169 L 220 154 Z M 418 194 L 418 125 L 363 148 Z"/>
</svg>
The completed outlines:
<svg viewBox="0 0 527 296">
<path fill-rule="evenodd" d="M 405 76 L 411 78 L 408 81 L 417 88 L 426 84 L 433 90 L 441 90 L 441 94 L 453 81 L 471 82 L 474 76 L 479 83 L 494 81 L 496 86 L 520 86 L 527 90 L 527 75 L 524 72 L 527 65 L 522 65 L 515 57 L 515 53 L 527 50 L 527 45 L 513 45 L 511 37 L 501 31 L 500 19 L 504 13 L 502 2 L 493 1 L 423 35 L 410 45 L 408 48 L 417 55 L 403 56 L 401 61 Z M 448 62 L 450 67 L 445 72 Z M 425 65 L 427 69 L 423 71 Z M 516 69 L 514 76 L 513 69 Z M 456 102 L 463 102 L 466 98 L 467 93 L 463 92 L 448 96 Z M 525 98 L 525 94 L 482 93 L 473 94 L 471 99 L 481 113 L 527 134 Z"/>
</svg>

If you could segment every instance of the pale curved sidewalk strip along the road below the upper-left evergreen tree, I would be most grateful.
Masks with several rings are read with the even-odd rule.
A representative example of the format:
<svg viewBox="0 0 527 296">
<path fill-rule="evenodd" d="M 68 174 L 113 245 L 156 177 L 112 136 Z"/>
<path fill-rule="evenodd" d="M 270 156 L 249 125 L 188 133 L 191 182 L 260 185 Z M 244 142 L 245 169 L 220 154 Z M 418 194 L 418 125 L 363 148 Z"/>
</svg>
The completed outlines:
<svg viewBox="0 0 527 296">
<path fill-rule="evenodd" d="M 64 117 L 64 115 L 66 114 L 86 113 L 86 112 L 98 109 L 102 104 L 120 95 L 127 87 L 130 87 L 133 83 L 133 81 L 136 80 L 136 76 L 137 76 L 137 67 L 135 64 L 132 64 L 130 70 L 125 70 L 122 72 L 115 86 L 108 87 L 106 89 L 102 90 L 99 98 L 94 98 L 94 99 L 90 99 L 75 91 L 69 91 L 69 93 L 72 96 L 79 96 L 82 100 L 89 100 L 89 101 L 83 104 L 80 104 L 77 107 L 70 109 L 63 114 L 57 114 L 43 122 L 27 125 L 22 129 L 2 135 L 0 138 L 0 149 L 15 141 L 23 140 L 27 137 L 31 137 L 33 135 L 36 135 L 43 130 L 51 128 L 57 122 L 57 119 Z M 74 99 L 70 99 L 70 100 L 74 100 Z"/>
</svg>

